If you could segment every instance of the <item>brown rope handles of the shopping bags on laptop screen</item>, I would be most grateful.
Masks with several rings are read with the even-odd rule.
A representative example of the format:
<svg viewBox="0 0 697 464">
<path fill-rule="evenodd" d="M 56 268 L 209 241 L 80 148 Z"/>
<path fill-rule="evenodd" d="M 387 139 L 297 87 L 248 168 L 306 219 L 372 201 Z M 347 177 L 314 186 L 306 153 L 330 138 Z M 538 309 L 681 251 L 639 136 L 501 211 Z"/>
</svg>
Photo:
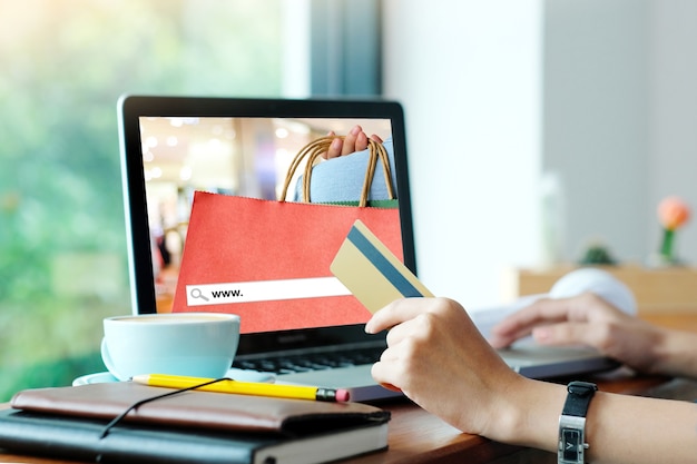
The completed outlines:
<svg viewBox="0 0 697 464">
<path fill-rule="evenodd" d="M 312 168 L 318 161 L 318 158 L 322 157 L 322 154 L 326 152 L 332 145 L 332 140 L 336 137 L 344 139 L 343 136 L 326 136 L 318 138 L 314 141 L 311 141 L 305 147 L 303 147 L 298 154 L 293 158 L 291 162 L 291 167 L 285 177 L 285 182 L 283 184 L 283 191 L 281 194 L 281 201 L 285 201 L 286 195 L 288 192 L 288 187 L 291 186 L 291 180 L 293 179 L 293 175 L 297 170 L 298 166 L 306 158 L 305 164 L 305 172 L 303 174 L 303 201 L 310 203 L 310 181 L 312 177 Z M 365 171 L 365 179 L 363 180 L 363 190 L 361 191 L 361 198 L 359 199 L 359 206 L 367 205 L 367 195 L 371 191 L 371 185 L 373 184 L 373 176 L 375 175 L 375 168 L 377 166 L 377 158 L 380 158 L 382 162 L 382 170 L 385 176 L 385 185 L 387 187 L 389 199 L 393 200 L 394 197 L 394 188 L 392 187 L 392 169 L 390 167 L 390 158 L 387 157 L 387 150 L 385 147 L 376 142 L 373 139 L 369 139 L 367 141 L 369 149 L 369 160 L 367 160 L 367 169 Z"/>
</svg>

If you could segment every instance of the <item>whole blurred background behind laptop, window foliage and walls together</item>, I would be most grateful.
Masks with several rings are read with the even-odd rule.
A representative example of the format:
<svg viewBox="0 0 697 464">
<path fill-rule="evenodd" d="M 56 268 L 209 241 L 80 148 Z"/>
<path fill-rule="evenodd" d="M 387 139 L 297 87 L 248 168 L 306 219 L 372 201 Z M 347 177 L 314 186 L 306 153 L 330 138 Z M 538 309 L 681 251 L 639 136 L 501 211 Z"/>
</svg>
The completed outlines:
<svg viewBox="0 0 697 464">
<path fill-rule="evenodd" d="M 696 45 L 693 0 L 0 0 L 0 401 L 104 371 L 130 313 L 120 95 L 401 101 L 420 275 L 477 308 L 697 205 Z"/>
</svg>

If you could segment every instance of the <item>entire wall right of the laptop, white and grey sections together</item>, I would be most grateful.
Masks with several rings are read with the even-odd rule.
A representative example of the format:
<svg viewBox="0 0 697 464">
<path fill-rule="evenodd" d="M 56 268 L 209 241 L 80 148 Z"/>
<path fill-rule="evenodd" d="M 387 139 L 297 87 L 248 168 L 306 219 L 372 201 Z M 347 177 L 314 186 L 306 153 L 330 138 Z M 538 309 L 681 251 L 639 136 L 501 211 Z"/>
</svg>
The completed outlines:
<svg viewBox="0 0 697 464">
<path fill-rule="evenodd" d="M 560 258 L 656 250 L 658 201 L 697 208 L 697 1 L 385 0 L 385 95 L 403 102 L 420 275 L 468 307 L 540 264 L 540 180 Z M 553 219 L 553 218 L 552 218 Z M 678 236 L 697 261 L 697 220 Z"/>
</svg>

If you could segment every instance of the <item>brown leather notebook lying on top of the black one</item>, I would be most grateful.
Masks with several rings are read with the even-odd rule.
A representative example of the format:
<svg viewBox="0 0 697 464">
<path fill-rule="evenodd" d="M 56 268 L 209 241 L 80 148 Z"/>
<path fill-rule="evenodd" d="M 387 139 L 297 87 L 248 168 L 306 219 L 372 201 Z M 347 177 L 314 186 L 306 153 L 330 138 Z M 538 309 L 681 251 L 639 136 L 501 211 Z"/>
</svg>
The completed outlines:
<svg viewBox="0 0 697 464">
<path fill-rule="evenodd" d="M 132 404 L 174 392 L 131 382 L 19 392 L 13 408 L 85 418 L 112 419 Z M 304 435 L 361 424 L 385 423 L 390 413 L 360 403 L 325 403 L 227 393 L 183 392 L 151 401 L 129 412 L 125 422 L 205 427 L 240 432 Z"/>
</svg>

